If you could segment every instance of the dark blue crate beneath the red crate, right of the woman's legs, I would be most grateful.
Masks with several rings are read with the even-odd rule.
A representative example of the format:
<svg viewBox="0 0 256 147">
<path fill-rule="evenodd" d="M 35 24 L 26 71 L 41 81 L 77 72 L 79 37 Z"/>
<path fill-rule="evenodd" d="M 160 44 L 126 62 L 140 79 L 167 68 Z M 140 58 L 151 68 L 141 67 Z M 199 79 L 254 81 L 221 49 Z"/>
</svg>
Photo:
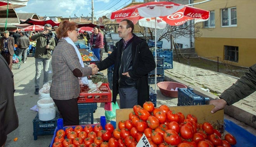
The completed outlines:
<svg viewBox="0 0 256 147">
<path fill-rule="evenodd" d="M 79 125 L 93 124 L 93 112 L 97 103 L 78 103 Z"/>
</svg>

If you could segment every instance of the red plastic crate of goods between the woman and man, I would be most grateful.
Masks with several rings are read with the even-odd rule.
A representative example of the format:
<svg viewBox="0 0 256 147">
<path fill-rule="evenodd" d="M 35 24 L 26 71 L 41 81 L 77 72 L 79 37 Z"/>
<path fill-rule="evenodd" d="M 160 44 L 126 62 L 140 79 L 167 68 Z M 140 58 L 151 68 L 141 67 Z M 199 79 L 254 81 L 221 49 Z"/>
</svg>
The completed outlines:
<svg viewBox="0 0 256 147">
<path fill-rule="evenodd" d="M 77 103 L 102 103 L 112 102 L 112 93 L 109 85 L 103 83 L 109 89 L 107 93 L 80 93 Z"/>
</svg>

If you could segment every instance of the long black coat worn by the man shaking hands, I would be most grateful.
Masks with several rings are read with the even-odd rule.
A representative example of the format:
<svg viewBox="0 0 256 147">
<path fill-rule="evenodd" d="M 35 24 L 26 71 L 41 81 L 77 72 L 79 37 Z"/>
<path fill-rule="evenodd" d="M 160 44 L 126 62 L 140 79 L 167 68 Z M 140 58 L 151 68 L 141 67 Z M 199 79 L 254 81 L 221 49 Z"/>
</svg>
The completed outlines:
<svg viewBox="0 0 256 147">
<path fill-rule="evenodd" d="M 112 86 L 112 102 L 116 103 L 116 96 L 118 94 L 118 79 L 117 74 L 120 67 L 120 58 L 123 48 L 123 39 L 116 43 L 116 48 L 102 62 L 96 63 L 99 70 L 105 70 L 114 64 L 113 71 L 113 86 Z M 149 84 L 148 73 L 156 68 L 156 63 L 149 46 L 144 39 L 139 38 L 133 34 L 132 41 L 132 62 L 133 70 L 129 71 L 131 79 L 136 81 L 136 88 L 138 89 L 138 104 L 143 106 L 145 101 L 149 101 Z"/>
</svg>

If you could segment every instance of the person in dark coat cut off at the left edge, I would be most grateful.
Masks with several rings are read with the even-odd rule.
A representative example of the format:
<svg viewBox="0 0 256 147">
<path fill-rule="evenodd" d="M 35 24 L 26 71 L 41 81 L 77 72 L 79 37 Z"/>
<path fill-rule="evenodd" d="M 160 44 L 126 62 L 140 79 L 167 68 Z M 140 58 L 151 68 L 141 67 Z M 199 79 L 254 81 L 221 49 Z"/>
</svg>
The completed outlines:
<svg viewBox="0 0 256 147">
<path fill-rule="evenodd" d="M 7 135 L 19 126 L 19 118 L 14 104 L 14 76 L 1 55 L 0 71 L 0 147 L 3 147 Z"/>
</svg>

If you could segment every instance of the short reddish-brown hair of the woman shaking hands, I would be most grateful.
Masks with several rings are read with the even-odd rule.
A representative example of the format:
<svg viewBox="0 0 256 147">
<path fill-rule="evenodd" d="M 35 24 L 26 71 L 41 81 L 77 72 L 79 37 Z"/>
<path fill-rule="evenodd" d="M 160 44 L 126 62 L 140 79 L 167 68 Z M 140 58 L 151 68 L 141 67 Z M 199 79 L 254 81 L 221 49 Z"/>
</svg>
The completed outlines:
<svg viewBox="0 0 256 147">
<path fill-rule="evenodd" d="M 56 29 L 57 37 L 59 39 L 67 37 L 68 36 L 67 32 L 68 31 L 73 31 L 76 28 L 78 28 L 78 25 L 76 24 L 76 22 L 70 22 L 70 21 L 67 21 L 67 20 L 62 21 L 59 24 L 59 27 Z"/>
</svg>

